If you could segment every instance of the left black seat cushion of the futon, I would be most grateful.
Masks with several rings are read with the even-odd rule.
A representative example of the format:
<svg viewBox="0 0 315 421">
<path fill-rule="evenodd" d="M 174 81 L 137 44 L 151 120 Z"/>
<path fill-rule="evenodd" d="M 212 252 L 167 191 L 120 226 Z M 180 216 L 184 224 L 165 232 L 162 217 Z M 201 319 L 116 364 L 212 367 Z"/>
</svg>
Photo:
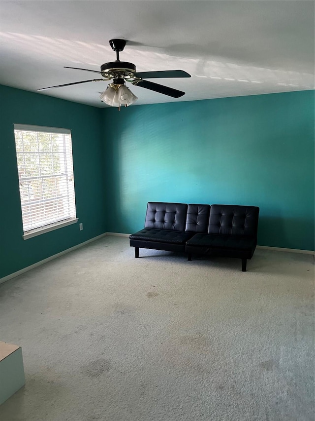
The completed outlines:
<svg viewBox="0 0 315 421">
<path fill-rule="evenodd" d="M 193 232 L 181 232 L 174 230 L 157 230 L 144 228 L 129 235 L 130 240 L 157 241 L 160 243 L 185 244 L 193 235 Z"/>
</svg>

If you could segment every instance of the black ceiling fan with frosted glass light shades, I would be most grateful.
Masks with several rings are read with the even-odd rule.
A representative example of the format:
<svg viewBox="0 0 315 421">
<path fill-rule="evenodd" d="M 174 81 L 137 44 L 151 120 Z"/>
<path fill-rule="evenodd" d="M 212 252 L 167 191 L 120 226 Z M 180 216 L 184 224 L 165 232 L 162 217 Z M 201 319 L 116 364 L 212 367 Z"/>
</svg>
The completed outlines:
<svg viewBox="0 0 315 421">
<path fill-rule="evenodd" d="M 96 70 L 80 69 L 77 67 L 67 67 L 65 69 L 84 70 L 86 72 L 98 73 L 102 77 L 100 79 L 82 80 L 80 82 L 65 83 L 63 85 L 49 86 L 47 88 L 37 89 L 43 91 L 51 88 L 60 88 L 62 86 L 77 85 L 79 83 L 99 82 L 104 80 L 111 80 L 113 82 L 107 86 L 104 92 L 100 92 L 100 99 L 108 105 L 116 106 L 120 109 L 121 105 L 128 106 L 135 102 L 138 98 L 126 87 L 126 81 L 136 86 L 141 86 L 151 91 L 159 92 L 173 98 L 180 98 L 185 95 L 185 92 L 177 89 L 169 88 L 168 86 L 160 85 L 158 83 L 143 80 L 143 78 L 164 78 L 164 77 L 190 77 L 189 73 L 183 70 L 165 70 L 157 72 L 136 72 L 136 67 L 133 63 L 120 61 L 119 53 L 123 51 L 126 45 L 125 39 L 111 39 L 110 46 L 116 51 L 116 61 L 104 63 L 100 67 L 100 72 Z"/>
</svg>

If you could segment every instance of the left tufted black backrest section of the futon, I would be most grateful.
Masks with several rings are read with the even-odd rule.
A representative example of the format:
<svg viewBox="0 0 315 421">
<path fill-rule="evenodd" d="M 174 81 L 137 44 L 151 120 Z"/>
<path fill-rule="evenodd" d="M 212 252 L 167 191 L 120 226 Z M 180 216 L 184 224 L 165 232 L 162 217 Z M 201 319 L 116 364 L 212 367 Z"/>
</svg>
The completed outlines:
<svg viewBox="0 0 315 421">
<path fill-rule="evenodd" d="M 144 228 L 185 231 L 186 203 L 149 202 Z"/>
</svg>

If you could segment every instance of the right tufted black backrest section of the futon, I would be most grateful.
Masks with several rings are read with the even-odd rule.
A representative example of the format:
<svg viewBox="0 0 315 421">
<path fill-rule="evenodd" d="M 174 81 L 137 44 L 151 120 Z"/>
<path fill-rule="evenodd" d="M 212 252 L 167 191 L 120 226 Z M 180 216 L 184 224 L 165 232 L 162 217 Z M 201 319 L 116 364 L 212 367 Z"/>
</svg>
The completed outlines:
<svg viewBox="0 0 315 421">
<path fill-rule="evenodd" d="M 258 214 L 256 206 L 211 205 L 208 233 L 257 237 Z"/>
</svg>

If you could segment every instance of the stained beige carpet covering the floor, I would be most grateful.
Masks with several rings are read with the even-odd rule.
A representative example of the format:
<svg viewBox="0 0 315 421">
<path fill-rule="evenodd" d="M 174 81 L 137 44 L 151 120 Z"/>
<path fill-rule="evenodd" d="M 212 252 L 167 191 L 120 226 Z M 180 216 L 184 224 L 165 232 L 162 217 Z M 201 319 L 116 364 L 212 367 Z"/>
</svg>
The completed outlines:
<svg viewBox="0 0 315 421">
<path fill-rule="evenodd" d="M 26 386 L 1 421 L 314 421 L 314 257 L 108 236 L 0 286 Z"/>
</svg>

